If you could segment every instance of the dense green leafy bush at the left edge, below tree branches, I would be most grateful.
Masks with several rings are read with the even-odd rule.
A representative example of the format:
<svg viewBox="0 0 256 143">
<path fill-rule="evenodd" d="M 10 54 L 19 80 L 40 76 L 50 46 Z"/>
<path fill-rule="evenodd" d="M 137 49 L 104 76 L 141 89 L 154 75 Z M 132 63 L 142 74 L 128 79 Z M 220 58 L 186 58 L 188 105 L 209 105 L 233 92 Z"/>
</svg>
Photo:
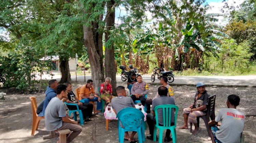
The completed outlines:
<svg viewBox="0 0 256 143">
<path fill-rule="evenodd" d="M 33 89 L 36 72 L 43 66 L 38 58 L 39 52 L 31 47 L 17 48 L 14 53 L 0 57 L 0 82 L 7 88 L 15 87 L 19 90 Z"/>
</svg>

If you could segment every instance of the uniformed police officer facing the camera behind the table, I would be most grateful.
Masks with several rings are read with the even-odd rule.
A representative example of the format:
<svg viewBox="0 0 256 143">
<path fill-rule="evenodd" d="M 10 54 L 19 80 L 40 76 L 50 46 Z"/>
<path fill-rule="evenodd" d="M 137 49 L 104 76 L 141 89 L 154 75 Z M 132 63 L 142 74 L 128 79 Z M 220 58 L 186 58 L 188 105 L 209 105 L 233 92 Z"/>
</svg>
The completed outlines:
<svg viewBox="0 0 256 143">
<path fill-rule="evenodd" d="M 142 81 L 141 75 L 137 76 L 137 81 L 133 83 L 132 88 L 131 88 L 131 98 L 133 102 L 135 100 L 140 100 L 142 105 L 145 105 L 146 98 L 145 95 L 148 93 L 148 85 L 146 82 Z"/>
</svg>

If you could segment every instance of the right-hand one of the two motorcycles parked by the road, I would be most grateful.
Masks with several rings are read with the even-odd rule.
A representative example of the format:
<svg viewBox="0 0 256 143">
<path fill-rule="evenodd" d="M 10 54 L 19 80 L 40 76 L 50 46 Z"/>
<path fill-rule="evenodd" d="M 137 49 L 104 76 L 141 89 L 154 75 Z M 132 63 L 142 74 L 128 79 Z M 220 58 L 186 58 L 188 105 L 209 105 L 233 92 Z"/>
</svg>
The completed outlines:
<svg viewBox="0 0 256 143">
<path fill-rule="evenodd" d="M 161 77 L 167 77 L 168 82 L 173 82 L 174 81 L 174 75 L 173 75 L 173 71 L 161 71 L 160 74 L 157 72 L 160 68 L 155 67 L 154 71 L 153 71 L 153 75 L 151 76 L 151 81 L 154 82 L 155 81 L 155 76 L 157 75 L 157 79 L 160 79 Z"/>
</svg>

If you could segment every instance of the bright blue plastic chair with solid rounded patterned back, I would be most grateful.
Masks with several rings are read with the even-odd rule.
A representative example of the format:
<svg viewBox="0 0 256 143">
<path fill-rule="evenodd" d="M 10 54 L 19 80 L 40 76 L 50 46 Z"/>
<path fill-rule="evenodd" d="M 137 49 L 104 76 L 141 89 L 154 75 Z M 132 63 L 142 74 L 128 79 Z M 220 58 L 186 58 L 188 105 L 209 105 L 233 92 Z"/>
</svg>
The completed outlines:
<svg viewBox="0 0 256 143">
<path fill-rule="evenodd" d="M 145 142 L 144 114 L 136 108 L 127 107 L 116 115 L 118 118 L 119 142 L 124 143 L 125 131 L 137 131 L 139 142 Z M 120 126 L 120 122 L 123 127 Z"/>
</svg>

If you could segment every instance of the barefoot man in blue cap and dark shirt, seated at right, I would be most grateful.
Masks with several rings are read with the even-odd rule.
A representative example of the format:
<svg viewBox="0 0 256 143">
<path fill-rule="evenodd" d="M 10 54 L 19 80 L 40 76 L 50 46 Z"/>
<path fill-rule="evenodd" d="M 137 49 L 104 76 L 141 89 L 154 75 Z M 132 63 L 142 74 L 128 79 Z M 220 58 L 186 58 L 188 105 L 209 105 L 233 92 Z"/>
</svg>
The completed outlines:
<svg viewBox="0 0 256 143">
<path fill-rule="evenodd" d="M 197 83 L 197 92 L 195 95 L 194 104 L 191 104 L 188 108 L 183 109 L 184 125 L 179 129 L 188 129 L 187 123 L 194 123 L 195 130 L 192 134 L 197 134 L 199 127 L 197 127 L 197 117 L 206 115 L 208 105 L 209 93 L 205 90 L 203 82 Z"/>
</svg>

